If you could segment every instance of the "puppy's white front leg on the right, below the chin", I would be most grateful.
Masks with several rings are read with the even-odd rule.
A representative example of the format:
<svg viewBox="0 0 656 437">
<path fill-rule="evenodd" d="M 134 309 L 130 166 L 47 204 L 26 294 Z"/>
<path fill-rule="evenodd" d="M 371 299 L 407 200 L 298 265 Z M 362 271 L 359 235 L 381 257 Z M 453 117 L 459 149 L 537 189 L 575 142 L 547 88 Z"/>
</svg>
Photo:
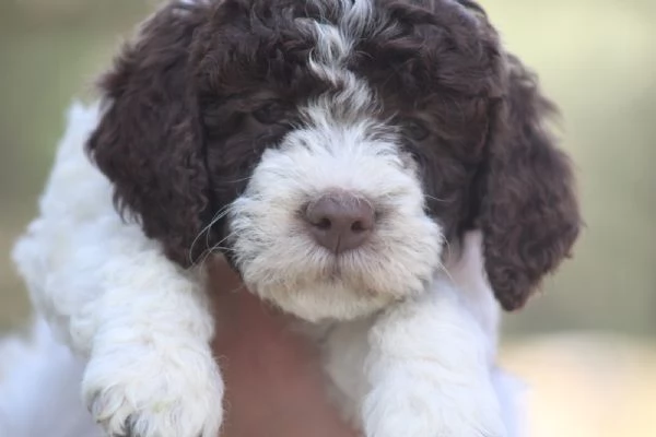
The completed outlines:
<svg viewBox="0 0 656 437">
<path fill-rule="evenodd" d="M 446 279 L 370 331 L 367 437 L 504 437 L 488 338 Z"/>
</svg>

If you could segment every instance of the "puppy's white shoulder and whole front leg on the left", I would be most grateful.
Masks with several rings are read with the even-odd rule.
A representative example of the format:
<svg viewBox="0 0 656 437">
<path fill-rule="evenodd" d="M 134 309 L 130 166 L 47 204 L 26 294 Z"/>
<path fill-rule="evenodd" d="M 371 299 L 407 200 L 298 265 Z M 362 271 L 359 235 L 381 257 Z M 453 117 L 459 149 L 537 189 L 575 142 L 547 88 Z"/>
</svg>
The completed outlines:
<svg viewBox="0 0 656 437">
<path fill-rule="evenodd" d="M 71 110 L 40 215 L 14 260 L 36 308 L 89 358 L 83 397 L 109 435 L 215 437 L 223 382 L 202 274 L 181 271 L 120 220 L 109 181 L 83 151 L 97 117 Z"/>
</svg>

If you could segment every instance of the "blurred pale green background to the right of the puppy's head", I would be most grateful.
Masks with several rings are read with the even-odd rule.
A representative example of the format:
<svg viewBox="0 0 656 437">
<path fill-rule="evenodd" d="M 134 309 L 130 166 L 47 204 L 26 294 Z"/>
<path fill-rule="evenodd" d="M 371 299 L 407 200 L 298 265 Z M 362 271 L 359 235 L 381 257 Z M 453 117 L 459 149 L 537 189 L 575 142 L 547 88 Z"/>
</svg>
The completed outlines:
<svg viewBox="0 0 656 437">
<path fill-rule="evenodd" d="M 487 0 L 563 113 L 587 228 L 522 332 L 656 334 L 656 2 Z"/>
</svg>

